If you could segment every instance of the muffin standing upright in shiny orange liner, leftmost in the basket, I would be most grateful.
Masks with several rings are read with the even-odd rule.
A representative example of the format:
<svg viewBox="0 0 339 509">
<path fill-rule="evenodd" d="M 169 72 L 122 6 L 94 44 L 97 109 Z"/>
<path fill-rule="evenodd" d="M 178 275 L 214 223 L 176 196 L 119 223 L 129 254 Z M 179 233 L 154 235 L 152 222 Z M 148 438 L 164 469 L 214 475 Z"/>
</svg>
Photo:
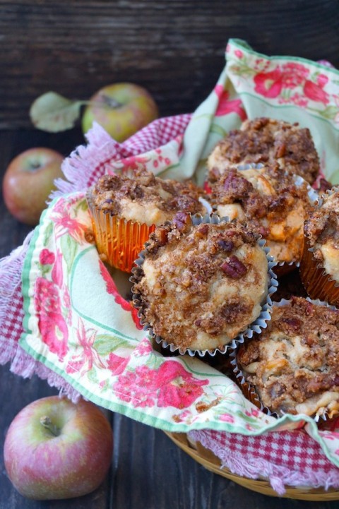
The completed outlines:
<svg viewBox="0 0 339 509">
<path fill-rule="evenodd" d="M 103 261 L 130 272 L 155 225 L 177 212 L 206 213 L 192 182 L 163 180 L 141 168 L 100 177 L 87 199 Z"/>
</svg>

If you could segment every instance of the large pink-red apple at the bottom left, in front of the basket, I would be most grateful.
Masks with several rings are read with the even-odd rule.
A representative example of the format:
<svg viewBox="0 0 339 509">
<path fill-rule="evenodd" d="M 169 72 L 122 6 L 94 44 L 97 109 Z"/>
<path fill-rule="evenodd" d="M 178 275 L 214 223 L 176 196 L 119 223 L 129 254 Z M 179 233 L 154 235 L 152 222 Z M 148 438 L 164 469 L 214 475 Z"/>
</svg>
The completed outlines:
<svg viewBox="0 0 339 509">
<path fill-rule="evenodd" d="M 66 397 L 42 397 L 24 407 L 6 433 L 6 472 L 34 500 L 82 496 L 97 489 L 112 460 L 113 438 L 100 408 Z"/>
</svg>

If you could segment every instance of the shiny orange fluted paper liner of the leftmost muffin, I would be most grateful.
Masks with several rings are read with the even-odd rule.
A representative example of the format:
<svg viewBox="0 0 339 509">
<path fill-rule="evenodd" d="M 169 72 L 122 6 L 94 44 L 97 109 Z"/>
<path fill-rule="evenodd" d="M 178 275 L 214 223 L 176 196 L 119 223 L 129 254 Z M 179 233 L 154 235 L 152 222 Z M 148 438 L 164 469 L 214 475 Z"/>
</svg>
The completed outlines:
<svg viewBox="0 0 339 509">
<path fill-rule="evenodd" d="M 155 224 L 148 226 L 137 221 L 126 221 L 123 217 L 97 209 L 90 192 L 86 198 L 100 258 L 123 272 L 131 272 L 134 261 L 155 229 Z"/>
</svg>

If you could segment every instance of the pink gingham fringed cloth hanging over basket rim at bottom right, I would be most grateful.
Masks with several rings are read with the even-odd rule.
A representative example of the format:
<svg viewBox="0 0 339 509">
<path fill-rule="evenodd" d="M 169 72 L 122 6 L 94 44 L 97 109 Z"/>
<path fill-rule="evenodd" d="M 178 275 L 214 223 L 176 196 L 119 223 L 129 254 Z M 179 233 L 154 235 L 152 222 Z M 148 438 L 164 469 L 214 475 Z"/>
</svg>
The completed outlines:
<svg viewBox="0 0 339 509">
<path fill-rule="evenodd" d="M 338 468 L 302 429 L 261 436 L 203 430 L 190 431 L 189 437 L 212 450 L 233 474 L 268 479 L 278 495 L 286 486 L 339 488 Z"/>
</svg>

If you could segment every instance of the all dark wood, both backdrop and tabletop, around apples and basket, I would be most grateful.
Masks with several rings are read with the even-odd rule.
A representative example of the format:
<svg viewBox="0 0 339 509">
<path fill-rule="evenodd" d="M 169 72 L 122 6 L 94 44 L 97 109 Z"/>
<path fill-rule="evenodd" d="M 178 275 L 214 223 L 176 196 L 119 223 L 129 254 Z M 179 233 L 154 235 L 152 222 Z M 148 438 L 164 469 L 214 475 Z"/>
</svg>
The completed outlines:
<svg viewBox="0 0 339 509">
<path fill-rule="evenodd" d="M 35 130 L 32 101 L 54 90 L 87 99 L 98 88 L 132 81 L 148 88 L 160 114 L 191 112 L 215 85 L 230 37 L 265 54 L 328 59 L 339 67 L 339 2 L 0 0 L 0 175 L 26 148 L 47 146 L 65 156 L 84 143 L 79 127 Z M 0 195 L 0 258 L 30 227 L 11 217 Z M 0 282 L 1 285 L 1 282 Z M 55 394 L 38 378 L 0 366 L 0 509 L 329 509 L 337 502 L 272 499 L 211 474 L 159 430 L 106 412 L 114 456 L 105 483 L 92 494 L 35 502 L 6 477 L 2 448 L 21 408 Z"/>
</svg>

